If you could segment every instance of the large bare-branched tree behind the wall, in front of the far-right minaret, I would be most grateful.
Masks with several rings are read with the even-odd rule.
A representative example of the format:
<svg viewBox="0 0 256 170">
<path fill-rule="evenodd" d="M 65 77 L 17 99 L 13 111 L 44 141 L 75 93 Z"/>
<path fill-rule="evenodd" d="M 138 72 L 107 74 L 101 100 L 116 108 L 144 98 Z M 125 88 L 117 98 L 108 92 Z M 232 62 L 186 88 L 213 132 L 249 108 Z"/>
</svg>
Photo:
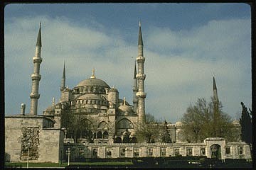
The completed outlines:
<svg viewBox="0 0 256 170">
<path fill-rule="evenodd" d="M 183 137 L 188 142 L 202 142 L 207 137 L 224 137 L 234 140 L 232 131 L 234 125 L 231 117 L 222 111 L 220 101 L 211 98 L 210 103 L 205 98 L 198 98 L 195 106 L 189 106 L 181 118 L 185 124 Z M 230 135 L 231 134 L 231 135 Z"/>
</svg>

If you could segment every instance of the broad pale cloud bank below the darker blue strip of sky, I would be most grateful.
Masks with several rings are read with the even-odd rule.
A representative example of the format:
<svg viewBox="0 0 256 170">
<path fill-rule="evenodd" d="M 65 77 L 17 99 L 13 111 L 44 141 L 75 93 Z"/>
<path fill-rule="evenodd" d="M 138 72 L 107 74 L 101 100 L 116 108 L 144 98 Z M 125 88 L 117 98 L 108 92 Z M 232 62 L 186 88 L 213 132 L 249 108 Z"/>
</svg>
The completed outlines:
<svg viewBox="0 0 256 170">
<path fill-rule="evenodd" d="M 89 78 L 95 67 L 97 78 L 116 86 L 119 97 L 125 96 L 132 103 L 137 39 L 131 45 L 122 30 L 107 31 L 110 28 L 97 21 L 91 21 L 92 26 L 78 25 L 69 18 L 36 16 L 12 18 L 5 23 L 7 113 L 18 113 L 22 102 L 29 111 L 32 57 L 41 20 L 39 111 L 50 105 L 53 96 L 60 96 L 64 60 L 69 87 Z M 213 73 L 225 111 L 235 116 L 240 101 L 250 107 L 250 20 L 210 21 L 206 26 L 178 32 L 156 27 L 142 30 L 147 113 L 173 123 L 179 120 L 197 98 L 210 98 Z M 245 81 L 248 83 L 243 84 Z"/>
</svg>

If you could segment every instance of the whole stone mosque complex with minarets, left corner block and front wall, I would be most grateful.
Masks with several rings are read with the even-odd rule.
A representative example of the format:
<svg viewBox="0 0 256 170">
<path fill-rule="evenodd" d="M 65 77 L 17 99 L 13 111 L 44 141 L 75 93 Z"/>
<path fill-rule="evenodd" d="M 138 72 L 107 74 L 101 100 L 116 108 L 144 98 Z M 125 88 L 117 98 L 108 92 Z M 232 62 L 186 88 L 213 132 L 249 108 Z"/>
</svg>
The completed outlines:
<svg viewBox="0 0 256 170">
<path fill-rule="evenodd" d="M 21 104 L 20 115 L 5 116 L 6 161 L 59 162 L 71 149 L 71 159 L 77 157 L 173 157 L 178 154 L 205 155 L 213 157 L 220 152 L 225 158 L 250 158 L 249 146 L 244 142 L 225 142 L 223 138 L 207 138 L 203 143 L 187 143 L 180 135 L 183 124 L 151 124 L 159 130 L 167 128 L 173 143 L 137 143 L 136 125 L 145 123 L 144 62 L 142 29 L 139 23 L 138 56 L 134 64 L 133 104 L 119 98 L 119 91 L 102 79 L 92 76 L 82 80 L 72 89 L 65 86 L 65 63 L 60 83 L 60 99 L 53 99 L 51 106 L 38 115 L 39 81 L 41 80 L 41 26 L 33 57 L 34 72 L 31 74 L 31 109 L 25 114 L 26 105 Z M 137 70 L 138 68 L 138 70 Z M 215 79 L 213 78 L 214 84 Z M 213 85 L 214 96 L 217 88 Z M 74 125 L 78 121 L 85 125 L 79 134 L 69 132 L 65 116 Z M 73 119 L 71 119 L 73 118 Z M 239 123 L 235 123 L 239 128 Z M 129 134 L 133 143 L 122 143 Z M 76 135 L 75 140 L 71 135 Z M 29 157 L 28 157 L 29 155 Z"/>
</svg>

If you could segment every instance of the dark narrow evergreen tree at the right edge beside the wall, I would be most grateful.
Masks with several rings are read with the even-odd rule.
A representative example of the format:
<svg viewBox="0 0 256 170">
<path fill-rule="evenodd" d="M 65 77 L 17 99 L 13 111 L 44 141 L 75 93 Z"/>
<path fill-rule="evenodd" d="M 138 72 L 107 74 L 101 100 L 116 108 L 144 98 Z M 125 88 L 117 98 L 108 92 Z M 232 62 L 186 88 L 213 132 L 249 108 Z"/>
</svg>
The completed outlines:
<svg viewBox="0 0 256 170">
<path fill-rule="evenodd" d="M 247 144 L 252 144 L 252 111 L 247 111 L 244 103 L 241 102 L 242 115 L 240 118 L 241 125 L 241 140 L 245 141 Z"/>
</svg>

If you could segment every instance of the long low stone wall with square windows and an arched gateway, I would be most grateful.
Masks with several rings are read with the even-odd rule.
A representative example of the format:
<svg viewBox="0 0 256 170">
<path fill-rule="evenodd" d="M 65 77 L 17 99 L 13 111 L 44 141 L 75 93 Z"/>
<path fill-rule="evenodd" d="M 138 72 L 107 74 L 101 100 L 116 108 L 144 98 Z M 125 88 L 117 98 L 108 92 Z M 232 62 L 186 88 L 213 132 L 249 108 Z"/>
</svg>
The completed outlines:
<svg viewBox="0 0 256 170">
<path fill-rule="evenodd" d="M 214 150 L 214 146 L 220 146 Z M 113 143 L 65 145 L 65 150 L 72 148 L 71 161 L 78 158 L 120 158 L 120 157 L 175 157 L 206 156 L 218 159 L 250 159 L 250 147 L 245 142 L 225 143 L 223 138 L 210 137 L 202 143 Z M 219 154 L 215 154 L 219 152 Z M 65 157 L 64 157 L 65 159 Z"/>
</svg>

